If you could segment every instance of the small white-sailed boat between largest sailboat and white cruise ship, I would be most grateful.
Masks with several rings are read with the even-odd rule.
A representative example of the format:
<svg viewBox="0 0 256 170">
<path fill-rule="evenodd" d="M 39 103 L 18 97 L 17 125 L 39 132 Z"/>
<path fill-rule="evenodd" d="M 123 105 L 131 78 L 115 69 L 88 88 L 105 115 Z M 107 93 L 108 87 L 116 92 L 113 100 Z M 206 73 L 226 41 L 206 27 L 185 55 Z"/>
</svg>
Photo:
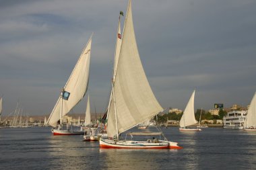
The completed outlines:
<svg viewBox="0 0 256 170">
<path fill-rule="evenodd" d="M 183 116 L 181 117 L 181 120 L 180 120 L 179 130 L 185 130 L 185 131 L 201 130 L 200 128 L 187 128 L 187 126 L 191 126 L 197 123 L 197 120 L 195 120 L 194 99 L 195 99 L 195 90 L 193 91 L 189 99 L 189 102 L 187 103 L 187 106 L 183 112 Z"/>
</svg>

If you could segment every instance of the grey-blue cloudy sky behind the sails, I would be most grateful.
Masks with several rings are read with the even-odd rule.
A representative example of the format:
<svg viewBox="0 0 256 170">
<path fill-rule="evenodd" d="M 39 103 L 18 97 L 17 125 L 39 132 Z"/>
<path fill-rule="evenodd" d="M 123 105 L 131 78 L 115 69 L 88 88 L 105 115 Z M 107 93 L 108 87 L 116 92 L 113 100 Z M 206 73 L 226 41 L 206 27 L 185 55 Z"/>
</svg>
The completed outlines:
<svg viewBox="0 0 256 170">
<path fill-rule="evenodd" d="M 91 112 L 104 112 L 127 0 L 0 1 L 3 115 L 49 115 L 88 42 Z M 247 106 L 256 91 L 256 1 L 133 0 L 137 46 L 163 108 Z M 122 19 L 122 24 L 124 17 Z M 122 27 L 123 28 L 123 27 Z M 86 97 L 72 112 L 86 110 Z"/>
</svg>

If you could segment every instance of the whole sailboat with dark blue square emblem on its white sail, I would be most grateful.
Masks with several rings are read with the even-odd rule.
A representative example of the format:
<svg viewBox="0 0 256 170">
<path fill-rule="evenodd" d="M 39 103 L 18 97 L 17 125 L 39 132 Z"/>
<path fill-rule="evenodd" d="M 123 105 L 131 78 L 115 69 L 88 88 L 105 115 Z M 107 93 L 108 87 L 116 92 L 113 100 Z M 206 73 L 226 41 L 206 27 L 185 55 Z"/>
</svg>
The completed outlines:
<svg viewBox="0 0 256 170">
<path fill-rule="evenodd" d="M 79 103 L 88 89 L 90 54 L 91 54 L 92 36 L 79 56 L 77 63 L 67 80 L 65 87 L 61 90 L 61 95 L 49 116 L 47 124 L 53 126 L 53 135 L 77 135 L 84 134 L 82 128 L 75 129 L 73 126 L 63 127 L 63 116 Z"/>
</svg>

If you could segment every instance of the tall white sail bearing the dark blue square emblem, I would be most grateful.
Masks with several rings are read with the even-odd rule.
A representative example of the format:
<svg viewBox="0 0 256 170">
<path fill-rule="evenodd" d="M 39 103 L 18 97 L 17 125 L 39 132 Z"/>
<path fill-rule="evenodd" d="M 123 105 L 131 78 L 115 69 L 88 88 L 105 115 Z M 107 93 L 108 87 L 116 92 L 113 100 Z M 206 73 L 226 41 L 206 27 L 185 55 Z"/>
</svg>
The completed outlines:
<svg viewBox="0 0 256 170">
<path fill-rule="evenodd" d="M 69 98 L 65 100 L 62 99 L 62 96 L 59 97 L 55 108 L 53 108 L 53 112 L 47 121 L 49 125 L 56 126 L 57 122 L 61 119 L 61 115 L 65 116 L 86 94 L 89 81 L 91 44 L 92 37 L 85 46 L 82 54 L 79 56 L 75 68 L 64 87 L 64 90 L 70 93 Z"/>
</svg>

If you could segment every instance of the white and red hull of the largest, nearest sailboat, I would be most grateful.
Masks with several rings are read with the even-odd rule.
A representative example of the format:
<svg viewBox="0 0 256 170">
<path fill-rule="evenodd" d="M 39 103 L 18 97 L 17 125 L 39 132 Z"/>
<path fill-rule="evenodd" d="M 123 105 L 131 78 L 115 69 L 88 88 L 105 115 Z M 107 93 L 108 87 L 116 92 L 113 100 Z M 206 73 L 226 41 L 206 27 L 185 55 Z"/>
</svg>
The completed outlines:
<svg viewBox="0 0 256 170">
<path fill-rule="evenodd" d="M 140 148 L 140 149 L 160 149 L 160 148 L 174 148 L 181 149 L 177 142 L 169 142 L 160 140 L 158 143 L 149 143 L 147 141 L 133 141 L 133 140 L 110 140 L 100 139 L 100 148 Z"/>
</svg>

